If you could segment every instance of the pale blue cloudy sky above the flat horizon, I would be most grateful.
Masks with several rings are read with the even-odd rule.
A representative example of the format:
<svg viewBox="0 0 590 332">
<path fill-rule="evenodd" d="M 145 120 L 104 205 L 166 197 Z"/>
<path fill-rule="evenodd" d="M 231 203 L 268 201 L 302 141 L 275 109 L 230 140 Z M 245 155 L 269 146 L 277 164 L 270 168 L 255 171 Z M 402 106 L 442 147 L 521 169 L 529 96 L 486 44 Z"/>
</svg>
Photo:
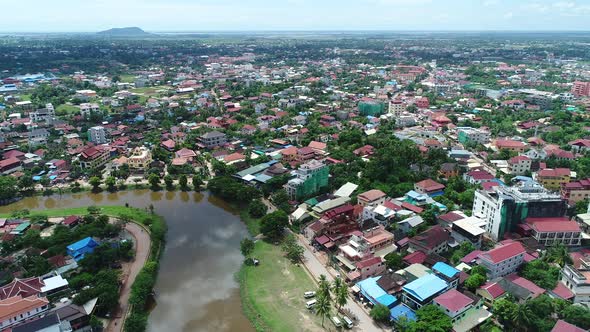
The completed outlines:
<svg viewBox="0 0 590 332">
<path fill-rule="evenodd" d="M 2 32 L 590 30 L 590 0 L 0 0 Z"/>
</svg>

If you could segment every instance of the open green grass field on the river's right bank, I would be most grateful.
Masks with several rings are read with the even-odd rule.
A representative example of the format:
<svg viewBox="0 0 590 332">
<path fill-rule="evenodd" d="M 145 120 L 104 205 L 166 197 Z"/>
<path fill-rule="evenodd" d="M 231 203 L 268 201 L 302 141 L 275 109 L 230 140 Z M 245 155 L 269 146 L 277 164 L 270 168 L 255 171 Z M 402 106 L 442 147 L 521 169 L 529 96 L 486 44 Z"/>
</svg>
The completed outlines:
<svg viewBox="0 0 590 332">
<path fill-rule="evenodd" d="M 316 285 L 304 267 L 294 265 L 279 246 L 257 241 L 252 254 L 259 266 L 238 273 L 244 313 L 257 331 L 324 331 L 321 318 L 305 307 L 303 293 Z M 333 327 L 328 319 L 326 328 Z"/>
</svg>

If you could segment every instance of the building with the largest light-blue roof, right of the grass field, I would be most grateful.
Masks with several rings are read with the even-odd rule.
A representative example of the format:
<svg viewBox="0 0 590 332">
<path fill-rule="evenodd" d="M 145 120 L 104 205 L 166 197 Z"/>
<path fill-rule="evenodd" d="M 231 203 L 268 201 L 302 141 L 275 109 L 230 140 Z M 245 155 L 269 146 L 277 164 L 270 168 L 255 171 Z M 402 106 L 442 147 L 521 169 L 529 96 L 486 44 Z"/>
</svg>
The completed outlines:
<svg viewBox="0 0 590 332">
<path fill-rule="evenodd" d="M 431 304 L 448 289 L 448 284 L 434 274 L 427 274 L 402 287 L 402 301 L 412 309 Z"/>
</svg>

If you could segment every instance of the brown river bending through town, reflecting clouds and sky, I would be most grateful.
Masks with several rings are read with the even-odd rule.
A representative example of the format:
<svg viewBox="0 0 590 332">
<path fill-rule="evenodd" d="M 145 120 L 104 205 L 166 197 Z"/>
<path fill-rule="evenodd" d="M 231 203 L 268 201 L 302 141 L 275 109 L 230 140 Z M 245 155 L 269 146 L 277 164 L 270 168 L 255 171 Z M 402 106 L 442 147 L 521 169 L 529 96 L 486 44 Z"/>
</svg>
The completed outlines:
<svg viewBox="0 0 590 332">
<path fill-rule="evenodd" d="M 248 232 L 236 211 L 207 193 L 135 190 L 29 197 L 0 207 L 0 213 L 125 203 L 153 204 L 168 224 L 148 331 L 254 331 L 242 314 L 234 279 L 242 263 L 240 240 Z"/>
</svg>

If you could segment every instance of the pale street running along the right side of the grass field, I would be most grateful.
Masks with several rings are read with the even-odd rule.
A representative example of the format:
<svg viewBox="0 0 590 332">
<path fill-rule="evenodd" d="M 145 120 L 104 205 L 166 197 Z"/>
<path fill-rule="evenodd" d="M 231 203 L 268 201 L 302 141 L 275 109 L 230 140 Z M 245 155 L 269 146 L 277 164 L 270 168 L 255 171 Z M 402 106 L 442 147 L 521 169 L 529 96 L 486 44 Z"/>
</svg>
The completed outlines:
<svg viewBox="0 0 590 332">
<path fill-rule="evenodd" d="M 305 266 L 314 275 L 316 280 L 320 277 L 320 275 L 325 275 L 329 281 L 334 280 L 334 276 L 328 271 L 328 269 L 319 261 L 319 259 L 313 254 L 311 248 L 307 244 L 307 241 L 302 238 L 302 236 L 297 236 L 299 242 L 305 248 L 304 256 L 305 256 Z M 350 310 L 356 317 L 358 317 L 358 325 L 357 327 L 363 332 L 380 332 L 385 331 L 384 329 L 377 326 L 373 319 L 368 315 L 368 313 L 352 298 L 349 299 L 348 304 L 344 307 L 344 309 Z"/>
</svg>

